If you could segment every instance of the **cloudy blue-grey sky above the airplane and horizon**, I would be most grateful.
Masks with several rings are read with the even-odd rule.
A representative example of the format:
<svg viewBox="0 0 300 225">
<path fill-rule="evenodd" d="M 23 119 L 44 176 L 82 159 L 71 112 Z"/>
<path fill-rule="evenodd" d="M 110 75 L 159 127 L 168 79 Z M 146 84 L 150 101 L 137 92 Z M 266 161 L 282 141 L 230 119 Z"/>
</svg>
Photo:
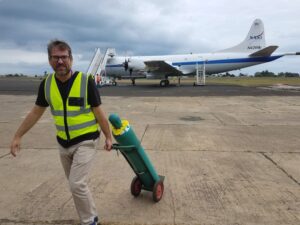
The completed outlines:
<svg viewBox="0 0 300 225">
<path fill-rule="evenodd" d="M 74 70 L 99 47 L 117 54 L 208 53 L 234 46 L 260 18 L 267 45 L 300 51 L 299 0 L 0 0 L 0 74 L 51 72 L 47 44 L 67 41 Z M 275 53 L 276 53 L 275 52 Z M 236 71 L 300 73 L 300 56 Z"/>
</svg>

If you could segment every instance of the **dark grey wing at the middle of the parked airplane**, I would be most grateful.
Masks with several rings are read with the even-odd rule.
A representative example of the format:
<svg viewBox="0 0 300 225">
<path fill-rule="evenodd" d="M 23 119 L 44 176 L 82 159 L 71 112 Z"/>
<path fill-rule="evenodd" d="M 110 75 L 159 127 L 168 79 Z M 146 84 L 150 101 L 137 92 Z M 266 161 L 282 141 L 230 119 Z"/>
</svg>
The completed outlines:
<svg viewBox="0 0 300 225">
<path fill-rule="evenodd" d="M 154 73 L 163 73 L 166 75 L 182 76 L 183 73 L 163 60 L 144 61 L 147 70 Z"/>
</svg>

